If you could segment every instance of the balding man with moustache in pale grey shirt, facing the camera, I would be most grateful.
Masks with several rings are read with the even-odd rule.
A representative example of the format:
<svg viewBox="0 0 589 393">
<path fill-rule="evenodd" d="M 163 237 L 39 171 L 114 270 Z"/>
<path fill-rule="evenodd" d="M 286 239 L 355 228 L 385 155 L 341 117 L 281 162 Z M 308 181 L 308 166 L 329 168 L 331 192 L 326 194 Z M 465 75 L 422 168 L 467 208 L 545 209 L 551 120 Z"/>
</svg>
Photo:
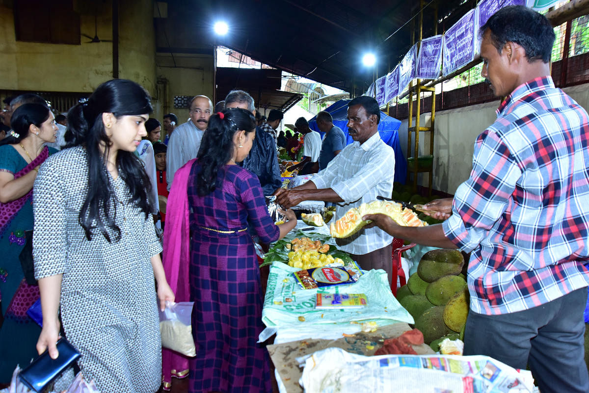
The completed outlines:
<svg viewBox="0 0 589 393">
<path fill-rule="evenodd" d="M 188 108 L 190 108 L 190 119 L 174 129 L 174 134 L 170 135 L 168 142 L 166 155 L 168 191 L 176 171 L 198 155 L 200 141 L 203 139 L 211 112 L 213 112 L 213 102 L 207 96 L 197 95 L 190 101 Z"/>
</svg>

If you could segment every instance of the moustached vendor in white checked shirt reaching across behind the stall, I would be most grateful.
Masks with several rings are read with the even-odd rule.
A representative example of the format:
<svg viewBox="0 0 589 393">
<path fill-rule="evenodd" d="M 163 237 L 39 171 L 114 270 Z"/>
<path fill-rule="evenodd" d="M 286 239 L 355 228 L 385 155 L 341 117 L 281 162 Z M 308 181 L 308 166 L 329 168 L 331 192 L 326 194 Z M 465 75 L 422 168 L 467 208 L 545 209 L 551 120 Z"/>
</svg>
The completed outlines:
<svg viewBox="0 0 589 393">
<path fill-rule="evenodd" d="M 348 104 L 348 132 L 355 141 L 343 148 L 312 180 L 290 190 L 279 189 L 277 202 L 290 208 L 303 201 L 336 202 L 335 217 L 377 196 L 391 197 L 395 176 L 395 152 L 380 139 L 380 109 L 376 100 L 359 96 Z M 352 254 L 361 268 L 383 269 L 391 281 L 392 237 L 375 228 L 361 229 L 338 239 L 343 251 Z"/>
</svg>

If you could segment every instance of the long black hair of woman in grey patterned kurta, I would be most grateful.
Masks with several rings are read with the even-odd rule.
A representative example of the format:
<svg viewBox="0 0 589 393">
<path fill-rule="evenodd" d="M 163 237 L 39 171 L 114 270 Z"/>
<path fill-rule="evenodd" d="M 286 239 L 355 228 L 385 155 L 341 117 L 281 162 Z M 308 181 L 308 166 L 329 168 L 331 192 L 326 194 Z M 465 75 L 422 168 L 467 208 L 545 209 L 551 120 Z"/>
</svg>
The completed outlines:
<svg viewBox="0 0 589 393">
<path fill-rule="evenodd" d="M 96 88 L 88 101 L 75 105 L 68 112 L 68 129 L 65 133 L 66 147 L 84 146 L 88 162 L 88 193 L 78 215 L 86 238 L 92 239 L 92 231 L 98 228 L 111 242 L 121 238 L 121 229 L 116 224 L 117 199 L 108 179 L 106 159 L 112 145 L 102 122 L 103 113 L 112 113 L 118 119 L 125 115 L 145 115 L 153 111 L 147 91 L 133 81 L 112 79 Z M 130 201 L 150 215 L 148 195 L 151 182 L 140 159 L 133 152 L 119 150 L 117 167 L 121 179 L 127 184 Z"/>
</svg>

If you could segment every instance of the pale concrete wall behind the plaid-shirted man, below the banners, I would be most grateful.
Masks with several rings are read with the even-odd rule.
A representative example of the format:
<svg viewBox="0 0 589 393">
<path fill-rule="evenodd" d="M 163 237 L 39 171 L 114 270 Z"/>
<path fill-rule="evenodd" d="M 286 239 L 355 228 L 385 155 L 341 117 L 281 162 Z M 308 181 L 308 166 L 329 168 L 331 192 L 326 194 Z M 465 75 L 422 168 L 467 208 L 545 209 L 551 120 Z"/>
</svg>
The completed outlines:
<svg viewBox="0 0 589 393">
<path fill-rule="evenodd" d="M 564 89 L 583 108 L 589 109 L 589 84 Z M 439 111 L 435 115 L 434 179 L 433 188 L 454 194 L 458 185 L 468 178 L 472 169 L 475 139 L 497 116 L 499 101 L 472 105 L 465 108 Z M 421 116 L 421 125 L 429 125 L 429 114 Z M 413 118 L 415 125 L 415 118 Z M 399 141 L 407 157 L 408 119 L 399 128 Z M 421 132 L 419 155 L 429 154 L 429 133 Z M 413 156 L 413 151 L 409 156 Z M 428 174 L 418 175 L 418 184 L 428 185 Z"/>
</svg>

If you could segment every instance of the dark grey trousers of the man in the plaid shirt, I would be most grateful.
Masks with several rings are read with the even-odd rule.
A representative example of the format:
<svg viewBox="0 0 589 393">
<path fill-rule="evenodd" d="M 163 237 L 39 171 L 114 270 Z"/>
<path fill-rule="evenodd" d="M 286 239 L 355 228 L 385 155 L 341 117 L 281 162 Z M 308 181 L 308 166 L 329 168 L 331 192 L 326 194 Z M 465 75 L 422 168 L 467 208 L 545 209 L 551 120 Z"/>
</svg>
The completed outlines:
<svg viewBox="0 0 589 393">
<path fill-rule="evenodd" d="M 538 307 L 502 315 L 469 312 L 465 355 L 487 355 L 514 367 L 530 366 L 541 393 L 587 393 L 583 311 L 587 288 Z"/>
</svg>

